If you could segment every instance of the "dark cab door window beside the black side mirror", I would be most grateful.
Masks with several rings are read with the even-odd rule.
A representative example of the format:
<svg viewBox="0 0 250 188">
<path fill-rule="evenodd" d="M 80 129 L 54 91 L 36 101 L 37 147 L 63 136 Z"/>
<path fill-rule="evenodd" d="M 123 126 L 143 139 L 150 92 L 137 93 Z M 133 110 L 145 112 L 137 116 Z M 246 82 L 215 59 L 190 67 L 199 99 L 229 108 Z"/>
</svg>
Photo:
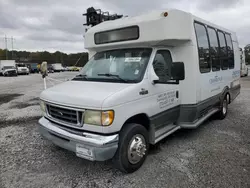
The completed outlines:
<svg viewBox="0 0 250 188">
<path fill-rule="evenodd" d="M 172 57 L 168 50 L 158 50 L 153 61 L 155 74 L 159 77 L 159 83 L 166 83 L 170 77 Z"/>
</svg>

